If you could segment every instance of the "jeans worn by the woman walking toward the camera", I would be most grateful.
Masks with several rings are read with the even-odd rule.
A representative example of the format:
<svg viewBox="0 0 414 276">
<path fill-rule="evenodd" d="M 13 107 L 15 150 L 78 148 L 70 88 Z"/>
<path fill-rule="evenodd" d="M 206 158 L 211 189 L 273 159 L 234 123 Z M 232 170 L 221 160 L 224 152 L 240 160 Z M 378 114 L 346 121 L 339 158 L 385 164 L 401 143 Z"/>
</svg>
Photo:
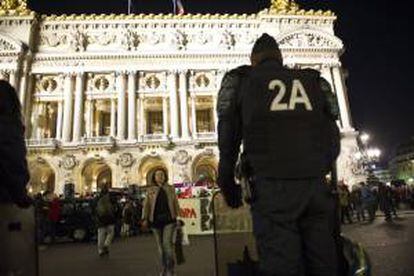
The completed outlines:
<svg viewBox="0 0 414 276">
<path fill-rule="evenodd" d="M 163 268 L 163 273 L 174 271 L 174 244 L 173 237 L 176 224 L 170 223 L 163 228 L 152 228 Z"/>
</svg>

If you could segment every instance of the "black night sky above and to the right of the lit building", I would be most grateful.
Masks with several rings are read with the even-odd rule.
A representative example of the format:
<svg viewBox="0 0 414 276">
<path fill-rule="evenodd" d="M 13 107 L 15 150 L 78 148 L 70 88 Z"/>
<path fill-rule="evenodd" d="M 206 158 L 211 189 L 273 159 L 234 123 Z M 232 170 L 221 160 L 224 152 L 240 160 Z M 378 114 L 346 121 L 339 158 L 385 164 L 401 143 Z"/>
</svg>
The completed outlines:
<svg viewBox="0 0 414 276">
<path fill-rule="evenodd" d="M 138 13 L 169 13 L 171 0 L 133 0 Z M 254 13 L 266 0 L 182 0 L 188 13 Z M 296 0 L 302 7 L 333 10 L 336 33 L 344 41 L 342 57 L 352 118 L 358 130 L 386 157 L 414 136 L 414 51 L 411 10 L 393 0 Z M 46 14 L 125 13 L 127 0 L 29 0 Z"/>
</svg>

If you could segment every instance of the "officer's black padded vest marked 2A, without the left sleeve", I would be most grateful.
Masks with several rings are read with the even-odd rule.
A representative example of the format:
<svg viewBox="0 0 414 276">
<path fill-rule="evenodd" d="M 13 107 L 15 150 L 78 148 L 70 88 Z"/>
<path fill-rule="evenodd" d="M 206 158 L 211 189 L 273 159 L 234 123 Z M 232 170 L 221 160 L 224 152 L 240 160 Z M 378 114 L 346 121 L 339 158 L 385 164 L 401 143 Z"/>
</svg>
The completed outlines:
<svg viewBox="0 0 414 276">
<path fill-rule="evenodd" d="M 339 154 L 339 129 L 316 70 L 294 70 L 267 59 L 242 84 L 244 153 L 254 174 L 321 177 Z"/>
</svg>

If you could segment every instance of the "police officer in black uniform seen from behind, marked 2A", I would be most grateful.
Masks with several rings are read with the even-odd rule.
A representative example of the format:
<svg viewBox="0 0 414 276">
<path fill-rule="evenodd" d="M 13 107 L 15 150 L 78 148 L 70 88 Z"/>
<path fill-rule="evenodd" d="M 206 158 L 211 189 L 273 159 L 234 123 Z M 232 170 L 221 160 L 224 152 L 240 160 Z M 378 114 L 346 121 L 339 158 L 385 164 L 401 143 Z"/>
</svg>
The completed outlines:
<svg viewBox="0 0 414 276">
<path fill-rule="evenodd" d="M 219 92 L 218 185 L 230 207 L 242 204 L 234 166 L 243 142 L 260 275 L 337 275 L 334 197 L 325 181 L 340 143 L 330 85 L 318 71 L 284 67 L 267 34 L 251 62 L 227 73 Z"/>
</svg>

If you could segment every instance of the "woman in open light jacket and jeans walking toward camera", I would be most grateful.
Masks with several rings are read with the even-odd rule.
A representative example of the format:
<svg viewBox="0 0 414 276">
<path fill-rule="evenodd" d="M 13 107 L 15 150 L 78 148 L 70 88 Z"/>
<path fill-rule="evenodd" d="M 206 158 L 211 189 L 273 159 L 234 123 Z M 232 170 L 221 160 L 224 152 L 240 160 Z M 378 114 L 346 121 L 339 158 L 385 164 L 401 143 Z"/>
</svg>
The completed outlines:
<svg viewBox="0 0 414 276">
<path fill-rule="evenodd" d="M 162 276 L 174 275 L 173 236 L 180 207 L 173 186 L 167 184 L 167 173 L 157 169 L 147 191 L 142 212 L 143 226 L 151 227 L 162 264 Z"/>
</svg>

